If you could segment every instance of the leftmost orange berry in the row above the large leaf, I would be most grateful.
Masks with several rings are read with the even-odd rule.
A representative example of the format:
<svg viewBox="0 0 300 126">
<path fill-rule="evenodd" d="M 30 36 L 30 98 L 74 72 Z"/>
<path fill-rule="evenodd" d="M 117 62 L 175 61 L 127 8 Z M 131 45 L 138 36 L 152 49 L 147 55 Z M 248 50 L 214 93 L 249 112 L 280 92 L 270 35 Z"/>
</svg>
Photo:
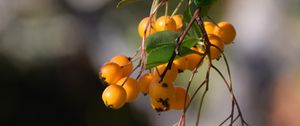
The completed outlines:
<svg viewBox="0 0 300 126">
<path fill-rule="evenodd" d="M 148 24 L 148 21 L 149 21 L 149 17 L 145 17 L 140 23 L 139 23 L 139 26 L 138 26 L 138 32 L 139 32 L 139 35 L 141 36 L 141 38 L 143 38 L 144 36 L 144 32 L 146 30 L 146 27 L 147 27 L 147 24 Z M 150 26 L 151 25 L 151 26 Z M 150 35 L 155 33 L 155 22 L 153 20 L 151 20 L 147 30 L 146 30 L 146 36 L 145 38 L 148 37 L 149 35 L 149 32 L 150 32 Z"/>
</svg>

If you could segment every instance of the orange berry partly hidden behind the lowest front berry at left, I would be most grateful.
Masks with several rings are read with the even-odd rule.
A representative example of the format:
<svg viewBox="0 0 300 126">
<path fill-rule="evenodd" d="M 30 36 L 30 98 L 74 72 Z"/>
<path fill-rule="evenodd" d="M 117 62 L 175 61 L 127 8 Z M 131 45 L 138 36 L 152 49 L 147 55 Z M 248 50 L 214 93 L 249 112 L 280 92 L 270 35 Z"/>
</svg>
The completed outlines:
<svg viewBox="0 0 300 126">
<path fill-rule="evenodd" d="M 122 85 L 126 81 L 127 77 L 120 79 L 117 82 L 117 85 Z M 136 99 L 138 94 L 140 93 L 138 83 L 135 79 L 128 77 L 127 81 L 124 83 L 123 88 L 126 91 L 126 102 L 132 102 Z"/>
</svg>

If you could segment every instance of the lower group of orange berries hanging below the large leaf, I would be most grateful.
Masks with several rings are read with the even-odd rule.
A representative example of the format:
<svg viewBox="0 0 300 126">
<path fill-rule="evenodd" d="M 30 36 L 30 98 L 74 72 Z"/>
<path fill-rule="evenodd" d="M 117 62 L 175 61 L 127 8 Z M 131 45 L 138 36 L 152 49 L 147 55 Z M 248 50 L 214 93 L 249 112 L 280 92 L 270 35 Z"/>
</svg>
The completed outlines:
<svg viewBox="0 0 300 126">
<path fill-rule="evenodd" d="M 199 56 L 196 54 L 190 54 Z M 108 85 L 102 93 L 102 100 L 109 108 L 118 109 L 125 103 L 132 102 L 137 98 L 139 93 L 150 95 L 150 104 L 156 111 L 167 111 L 170 108 L 181 110 L 184 108 L 184 101 L 189 102 L 189 96 L 186 98 L 186 89 L 180 86 L 174 86 L 177 78 L 178 60 L 166 75 L 162 82 L 159 82 L 161 73 L 166 69 L 167 64 L 159 65 L 155 68 L 154 73 L 145 73 L 138 80 L 130 77 L 133 65 L 129 57 L 119 55 L 113 57 L 105 63 L 100 71 L 99 76 Z M 194 65 L 195 66 L 195 65 Z M 182 67 L 181 67 L 182 68 Z"/>
</svg>

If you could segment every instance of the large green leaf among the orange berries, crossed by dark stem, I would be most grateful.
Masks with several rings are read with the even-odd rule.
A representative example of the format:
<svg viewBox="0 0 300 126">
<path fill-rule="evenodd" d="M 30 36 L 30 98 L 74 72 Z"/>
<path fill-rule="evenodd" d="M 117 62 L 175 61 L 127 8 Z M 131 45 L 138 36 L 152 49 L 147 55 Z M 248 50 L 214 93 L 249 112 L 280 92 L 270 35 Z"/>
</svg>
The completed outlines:
<svg viewBox="0 0 300 126">
<path fill-rule="evenodd" d="M 146 68 L 153 68 L 160 64 L 169 62 L 171 59 L 175 47 L 176 39 L 179 37 L 179 33 L 174 31 L 162 31 L 150 35 L 146 39 L 146 51 L 147 51 L 147 64 Z M 182 45 L 179 48 L 179 55 L 176 58 L 185 56 L 191 53 L 198 53 L 190 48 L 197 44 L 197 38 L 186 37 L 183 40 Z"/>
</svg>

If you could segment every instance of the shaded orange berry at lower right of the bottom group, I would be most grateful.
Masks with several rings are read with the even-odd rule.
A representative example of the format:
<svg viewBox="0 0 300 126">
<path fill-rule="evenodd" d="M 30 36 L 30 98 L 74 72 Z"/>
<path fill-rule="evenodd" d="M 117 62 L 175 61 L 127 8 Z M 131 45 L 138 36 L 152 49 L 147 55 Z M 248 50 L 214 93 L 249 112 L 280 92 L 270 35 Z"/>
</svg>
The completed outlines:
<svg viewBox="0 0 300 126">
<path fill-rule="evenodd" d="M 186 100 L 186 89 L 183 87 L 175 87 L 175 100 L 171 104 L 171 109 L 181 110 L 184 109 L 184 101 L 185 107 L 187 107 L 188 103 L 190 102 L 190 96 L 187 95 Z"/>
</svg>

